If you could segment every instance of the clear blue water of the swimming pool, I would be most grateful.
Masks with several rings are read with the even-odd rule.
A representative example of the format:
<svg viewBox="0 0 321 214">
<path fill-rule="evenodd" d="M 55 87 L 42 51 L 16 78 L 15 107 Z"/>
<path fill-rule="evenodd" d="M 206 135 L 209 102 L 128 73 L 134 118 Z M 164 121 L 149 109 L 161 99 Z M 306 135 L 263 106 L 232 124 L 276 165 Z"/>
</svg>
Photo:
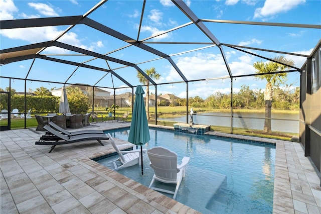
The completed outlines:
<svg viewBox="0 0 321 214">
<path fill-rule="evenodd" d="M 129 130 L 108 131 L 114 138 L 128 140 Z M 150 129 L 143 148 L 163 146 L 175 151 L 178 162 L 190 157 L 176 200 L 202 213 L 272 213 L 275 146 Z M 113 156 L 98 160 L 109 168 Z M 139 165 L 119 173 L 146 186 L 153 170 L 143 156 Z M 173 195 L 168 195 L 173 197 Z"/>
</svg>

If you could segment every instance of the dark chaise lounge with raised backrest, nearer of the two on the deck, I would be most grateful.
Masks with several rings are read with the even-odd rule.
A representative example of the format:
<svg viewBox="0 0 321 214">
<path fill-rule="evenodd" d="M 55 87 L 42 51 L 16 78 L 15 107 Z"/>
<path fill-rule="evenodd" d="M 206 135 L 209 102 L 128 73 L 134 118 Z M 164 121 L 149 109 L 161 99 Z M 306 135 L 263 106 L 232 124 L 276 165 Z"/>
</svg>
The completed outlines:
<svg viewBox="0 0 321 214">
<path fill-rule="evenodd" d="M 50 126 L 46 125 L 44 126 L 44 129 L 51 133 L 52 137 L 41 137 L 39 141 L 36 141 L 36 145 L 52 145 L 49 153 L 52 152 L 52 150 L 57 145 L 62 144 L 69 144 L 69 143 L 75 143 L 80 141 L 89 141 L 89 140 L 97 140 L 100 145 L 104 145 L 101 140 L 108 140 L 109 138 L 105 134 L 97 134 L 97 133 L 89 133 L 89 134 L 82 134 L 82 135 L 72 135 L 72 136 L 66 136 Z"/>
</svg>

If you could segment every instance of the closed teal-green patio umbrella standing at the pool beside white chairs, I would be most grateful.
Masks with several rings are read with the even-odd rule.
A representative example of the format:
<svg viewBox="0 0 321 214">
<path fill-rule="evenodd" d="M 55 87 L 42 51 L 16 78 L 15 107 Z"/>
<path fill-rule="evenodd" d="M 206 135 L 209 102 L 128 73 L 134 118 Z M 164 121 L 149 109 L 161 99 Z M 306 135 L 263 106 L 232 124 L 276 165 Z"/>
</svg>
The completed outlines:
<svg viewBox="0 0 321 214">
<path fill-rule="evenodd" d="M 140 146 L 140 160 L 141 160 L 142 175 L 144 174 L 143 165 L 142 165 L 142 146 L 150 140 L 144 99 L 142 97 L 144 93 L 145 92 L 142 89 L 141 85 L 137 85 L 136 92 L 135 92 L 136 97 L 134 102 L 132 118 L 131 118 L 131 125 L 130 125 L 129 135 L 128 135 L 128 141 L 130 143 Z"/>
</svg>

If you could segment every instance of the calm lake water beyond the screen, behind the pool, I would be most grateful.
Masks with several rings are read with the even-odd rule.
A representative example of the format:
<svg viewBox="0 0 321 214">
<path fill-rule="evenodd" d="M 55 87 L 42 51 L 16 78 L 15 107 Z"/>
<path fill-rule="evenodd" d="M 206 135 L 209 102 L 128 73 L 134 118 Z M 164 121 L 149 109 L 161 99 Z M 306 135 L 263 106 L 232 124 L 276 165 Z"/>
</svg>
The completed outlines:
<svg viewBox="0 0 321 214">
<path fill-rule="evenodd" d="M 229 112 L 213 112 L 193 116 L 195 124 L 212 126 L 231 126 Z M 299 114 L 272 113 L 272 131 L 299 133 Z M 190 119 L 190 116 L 189 116 Z M 186 116 L 178 118 L 158 118 L 158 121 L 176 121 L 186 123 Z M 263 130 L 264 113 L 233 113 L 233 127 Z"/>
</svg>

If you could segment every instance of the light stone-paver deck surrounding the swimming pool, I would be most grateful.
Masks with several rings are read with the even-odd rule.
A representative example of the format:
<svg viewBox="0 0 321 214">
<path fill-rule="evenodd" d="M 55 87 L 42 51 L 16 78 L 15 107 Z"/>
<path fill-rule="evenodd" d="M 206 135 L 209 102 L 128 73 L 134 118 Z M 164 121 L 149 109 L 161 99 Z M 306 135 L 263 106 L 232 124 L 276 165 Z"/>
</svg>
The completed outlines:
<svg viewBox="0 0 321 214">
<path fill-rule="evenodd" d="M 85 129 L 109 130 L 130 124 L 93 125 Z M 1 213 L 198 213 L 92 161 L 114 152 L 108 141 L 103 141 L 105 146 L 97 141 L 66 144 L 48 153 L 50 146 L 35 145 L 43 132 L 34 130 L 0 132 Z M 321 213 L 319 175 L 301 145 L 265 141 L 276 143 L 273 213 Z"/>
</svg>

